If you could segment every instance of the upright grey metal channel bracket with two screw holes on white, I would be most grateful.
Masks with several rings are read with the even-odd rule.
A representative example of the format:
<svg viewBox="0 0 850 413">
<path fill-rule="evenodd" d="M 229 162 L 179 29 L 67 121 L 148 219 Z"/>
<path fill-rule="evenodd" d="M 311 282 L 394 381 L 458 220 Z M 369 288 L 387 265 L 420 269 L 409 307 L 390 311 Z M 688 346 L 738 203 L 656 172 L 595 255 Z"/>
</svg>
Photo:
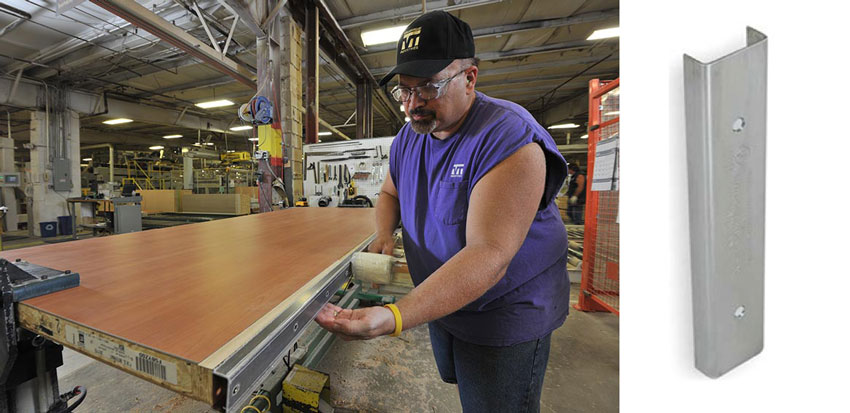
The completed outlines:
<svg viewBox="0 0 850 413">
<path fill-rule="evenodd" d="M 694 350 L 717 378 L 764 345 L 767 36 L 684 59 Z"/>
</svg>

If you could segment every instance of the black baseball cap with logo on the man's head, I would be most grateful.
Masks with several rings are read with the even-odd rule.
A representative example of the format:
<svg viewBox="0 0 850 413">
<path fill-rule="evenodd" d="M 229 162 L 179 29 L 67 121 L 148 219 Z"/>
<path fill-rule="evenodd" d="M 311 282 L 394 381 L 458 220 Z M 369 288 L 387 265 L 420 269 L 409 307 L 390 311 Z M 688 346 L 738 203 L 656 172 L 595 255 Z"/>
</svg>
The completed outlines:
<svg viewBox="0 0 850 413">
<path fill-rule="evenodd" d="M 383 86 L 395 75 L 431 77 L 455 59 L 475 57 L 472 29 L 444 11 L 432 11 L 410 23 L 396 46 L 396 66 L 381 79 Z"/>
</svg>

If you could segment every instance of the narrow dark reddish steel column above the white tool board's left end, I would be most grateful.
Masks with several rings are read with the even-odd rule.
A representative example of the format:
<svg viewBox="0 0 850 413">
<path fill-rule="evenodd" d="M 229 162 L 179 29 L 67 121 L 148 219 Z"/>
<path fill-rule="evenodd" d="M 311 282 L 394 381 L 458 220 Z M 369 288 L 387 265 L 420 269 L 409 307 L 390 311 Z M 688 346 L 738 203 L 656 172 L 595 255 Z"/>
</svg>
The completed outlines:
<svg viewBox="0 0 850 413">
<path fill-rule="evenodd" d="M 307 119 L 304 128 L 306 143 L 319 141 L 319 7 L 307 1 L 305 30 L 307 31 Z"/>
</svg>

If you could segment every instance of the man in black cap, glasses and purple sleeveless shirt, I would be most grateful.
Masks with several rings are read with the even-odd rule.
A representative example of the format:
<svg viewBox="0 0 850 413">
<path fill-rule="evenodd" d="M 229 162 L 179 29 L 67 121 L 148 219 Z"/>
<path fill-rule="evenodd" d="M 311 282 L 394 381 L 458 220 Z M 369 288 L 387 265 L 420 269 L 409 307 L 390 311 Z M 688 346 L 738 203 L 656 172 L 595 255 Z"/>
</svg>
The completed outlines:
<svg viewBox="0 0 850 413">
<path fill-rule="evenodd" d="M 475 91 L 472 31 L 437 11 L 397 46 L 393 96 L 410 122 L 390 150 L 372 252 L 401 221 L 416 288 L 397 309 L 317 317 L 343 339 L 428 323 L 441 378 L 467 412 L 538 411 L 551 332 L 569 306 L 567 234 L 554 197 L 566 162 L 522 107 Z"/>
</svg>

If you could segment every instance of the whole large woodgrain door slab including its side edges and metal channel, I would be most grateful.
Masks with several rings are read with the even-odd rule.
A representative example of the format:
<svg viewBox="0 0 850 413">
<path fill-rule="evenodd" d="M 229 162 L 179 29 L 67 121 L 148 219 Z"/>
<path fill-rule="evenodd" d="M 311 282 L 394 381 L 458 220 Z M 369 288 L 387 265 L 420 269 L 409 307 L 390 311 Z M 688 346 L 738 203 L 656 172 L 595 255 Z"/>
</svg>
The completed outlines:
<svg viewBox="0 0 850 413">
<path fill-rule="evenodd" d="M 292 208 L 5 251 L 80 274 L 21 327 L 225 410 L 244 405 L 374 237 L 374 210 Z"/>
</svg>

